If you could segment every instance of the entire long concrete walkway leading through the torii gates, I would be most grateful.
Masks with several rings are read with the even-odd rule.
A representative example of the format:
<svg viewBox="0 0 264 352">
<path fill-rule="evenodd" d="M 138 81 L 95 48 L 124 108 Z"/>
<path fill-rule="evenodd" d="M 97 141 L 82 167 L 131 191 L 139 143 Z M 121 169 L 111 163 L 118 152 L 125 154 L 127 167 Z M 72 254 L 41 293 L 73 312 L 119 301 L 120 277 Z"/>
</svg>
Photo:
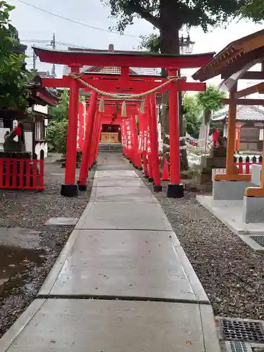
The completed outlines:
<svg viewBox="0 0 264 352">
<path fill-rule="evenodd" d="M 210 303 L 161 205 L 121 157 L 110 168 L 101 158 L 90 203 L 0 351 L 219 352 Z"/>
</svg>

